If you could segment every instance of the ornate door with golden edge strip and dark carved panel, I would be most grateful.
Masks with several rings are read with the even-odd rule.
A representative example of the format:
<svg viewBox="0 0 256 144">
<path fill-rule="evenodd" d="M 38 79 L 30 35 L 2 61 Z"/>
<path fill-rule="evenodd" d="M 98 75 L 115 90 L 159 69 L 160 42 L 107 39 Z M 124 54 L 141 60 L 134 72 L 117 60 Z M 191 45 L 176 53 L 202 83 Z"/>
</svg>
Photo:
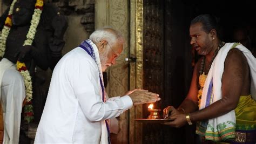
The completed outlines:
<svg viewBox="0 0 256 144">
<path fill-rule="evenodd" d="M 130 88 L 164 94 L 164 1 L 131 1 L 131 57 L 136 63 L 130 64 Z M 149 143 L 154 131 L 134 118 L 147 118 L 148 105 L 130 110 L 130 143 Z M 160 108 L 160 102 L 154 108 Z M 151 129 L 152 130 L 152 129 Z M 151 133 L 152 132 L 152 133 Z M 153 142 L 153 141 L 151 141 Z"/>
</svg>

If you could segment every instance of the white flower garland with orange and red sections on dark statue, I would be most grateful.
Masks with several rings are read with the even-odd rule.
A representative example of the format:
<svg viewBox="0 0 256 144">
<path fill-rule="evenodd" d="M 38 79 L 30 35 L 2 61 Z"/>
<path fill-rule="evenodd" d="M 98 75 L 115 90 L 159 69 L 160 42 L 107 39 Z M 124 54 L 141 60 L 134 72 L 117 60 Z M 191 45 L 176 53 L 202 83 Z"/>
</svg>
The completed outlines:
<svg viewBox="0 0 256 144">
<path fill-rule="evenodd" d="M 6 39 L 9 35 L 9 32 L 11 30 L 12 26 L 12 11 L 14 10 L 14 4 L 17 0 L 14 0 L 11 3 L 10 10 L 8 13 L 8 17 L 5 20 L 4 27 L 2 30 L 2 36 L 0 37 L 0 57 L 4 56 L 5 46 L 6 46 Z M 29 28 L 29 31 L 26 35 L 26 40 L 23 44 L 24 45 L 31 45 L 33 42 L 33 39 L 36 35 L 36 29 L 40 21 L 41 13 L 43 10 L 44 1 L 43 0 L 37 0 L 35 4 L 34 13 L 31 19 L 31 25 Z M 29 71 L 26 68 L 25 63 L 21 63 L 20 61 L 17 61 L 16 63 L 17 70 L 22 74 L 24 79 L 24 84 L 26 88 L 26 98 L 24 100 L 24 119 L 28 122 L 33 120 L 33 106 L 32 106 L 32 81 L 31 76 L 29 74 Z"/>
</svg>

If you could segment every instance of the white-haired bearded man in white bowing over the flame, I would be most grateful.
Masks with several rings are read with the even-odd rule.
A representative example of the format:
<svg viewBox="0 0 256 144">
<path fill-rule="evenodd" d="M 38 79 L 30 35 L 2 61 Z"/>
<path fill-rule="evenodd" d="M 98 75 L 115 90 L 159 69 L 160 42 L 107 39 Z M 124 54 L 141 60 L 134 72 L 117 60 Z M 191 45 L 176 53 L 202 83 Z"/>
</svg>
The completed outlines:
<svg viewBox="0 0 256 144">
<path fill-rule="evenodd" d="M 116 30 L 99 29 L 60 59 L 35 143 L 110 143 L 107 119 L 132 105 L 160 100 L 158 94 L 146 90 L 106 100 L 102 72 L 116 63 L 123 43 Z"/>
</svg>

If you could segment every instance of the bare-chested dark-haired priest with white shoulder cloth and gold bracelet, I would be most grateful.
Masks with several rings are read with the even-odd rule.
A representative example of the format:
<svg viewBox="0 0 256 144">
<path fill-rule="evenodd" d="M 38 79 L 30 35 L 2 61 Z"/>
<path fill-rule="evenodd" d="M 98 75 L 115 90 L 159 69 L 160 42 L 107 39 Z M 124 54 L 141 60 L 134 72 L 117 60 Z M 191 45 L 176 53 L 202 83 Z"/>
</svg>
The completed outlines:
<svg viewBox="0 0 256 144">
<path fill-rule="evenodd" d="M 240 43 L 221 42 L 218 22 L 211 15 L 194 18 L 190 36 L 203 57 L 194 67 L 186 99 L 178 109 L 164 109 L 165 117 L 173 120 L 166 125 L 197 122 L 196 133 L 206 140 L 255 143 L 256 59 Z"/>
</svg>

